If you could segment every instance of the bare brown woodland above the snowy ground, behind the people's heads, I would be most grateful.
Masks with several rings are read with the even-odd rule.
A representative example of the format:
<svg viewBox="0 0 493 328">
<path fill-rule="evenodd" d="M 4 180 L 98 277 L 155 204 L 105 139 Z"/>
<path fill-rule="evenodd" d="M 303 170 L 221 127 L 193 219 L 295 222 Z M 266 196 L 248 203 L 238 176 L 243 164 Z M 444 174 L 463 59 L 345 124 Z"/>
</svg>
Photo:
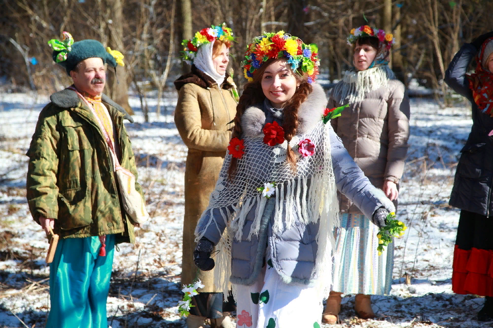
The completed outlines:
<svg viewBox="0 0 493 328">
<path fill-rule="evenodd" d="M 240 88 L 246 44 L 264 31 L 284 30 L 317 43 L 321 71 L 330 80 L 341 78 L 352 63 L 346 37 L 366 18 L 393 33 L 391 66 L 399 79 L 407 85 L 416 78 L 437 95 L 448 94 L 441 81 L 459 46 L 493 29 L 490 0 L 1 0 L 0 7 L 4 83 L 46 93 L 67 85 L 46 42 L 68 31 L 75 41 L 95 38 L 125 55 L 119 83 L 108 74 L 106 94 L 129 110 L 127 89 L 141 96 L 153 89 L 162 96 L 189 68 L 177 59 L 181 40 L 211 24 L 225 22 L 238 37 L 230 53 Z M 450 104 L 448 97 L 437 100 Z"/>
</svg>

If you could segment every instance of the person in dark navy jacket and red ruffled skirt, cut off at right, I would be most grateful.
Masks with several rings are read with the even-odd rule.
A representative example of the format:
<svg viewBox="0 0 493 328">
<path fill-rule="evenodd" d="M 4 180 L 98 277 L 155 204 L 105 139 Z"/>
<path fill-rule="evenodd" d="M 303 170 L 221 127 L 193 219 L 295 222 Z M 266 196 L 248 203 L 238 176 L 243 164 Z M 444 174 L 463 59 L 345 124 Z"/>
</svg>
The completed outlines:
<svg viewBox="0 0 493 328">
<path fill-rule="evenodd" d="M 477 67 L 466 74 L 476 56 Z M 472 104 L 472 128 L 457 165 L 450 205 L 460 208 L 452 290 L 486 296 L 479 321 L 493 321 L 493 32 L 464 44 L 445 82 Z"/>
</svg>

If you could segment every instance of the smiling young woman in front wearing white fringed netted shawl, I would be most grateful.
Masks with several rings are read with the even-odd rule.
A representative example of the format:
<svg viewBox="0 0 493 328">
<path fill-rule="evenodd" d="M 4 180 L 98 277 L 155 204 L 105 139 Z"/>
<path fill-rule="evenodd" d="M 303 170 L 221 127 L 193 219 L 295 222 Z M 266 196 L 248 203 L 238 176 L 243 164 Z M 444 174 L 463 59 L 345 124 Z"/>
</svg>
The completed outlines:
<svg viewBox="0 0 493 328">
<path fill-rule="evenodd" d="M 333 111 L 314 83 L 315 44 L 264 33 L 248 45 L 243 64 L 249 82 L 197 224 L 195 263 L 219 266 L 214 282 L 222 290 L 233 284 L 237 327 L 319 327 L 332 283 L 336 190 L 378 225 L 394 207 L 327 124 Z"/>
</svg>

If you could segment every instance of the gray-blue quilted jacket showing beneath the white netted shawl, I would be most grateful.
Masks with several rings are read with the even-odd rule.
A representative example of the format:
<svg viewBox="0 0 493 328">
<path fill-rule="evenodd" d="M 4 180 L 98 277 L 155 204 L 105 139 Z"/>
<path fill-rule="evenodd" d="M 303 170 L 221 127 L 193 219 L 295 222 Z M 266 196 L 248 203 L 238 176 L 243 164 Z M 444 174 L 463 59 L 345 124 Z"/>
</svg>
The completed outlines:
<svg viewBox="0 0 493 328">
<path fill-rule="evenodd" d="M 327 100 L 323 89 L 319 85 L 314 85 L 314 91 L 298 111 L 299 118 L 305 122 L 303 126 L 298 128 L 299 133 L 303 133 L 305 130 L 308 131 L 312 127 L 310 122 L 319 121 L 326 103 Z M 259 104 L 256 107 L 261 108 L 265 113 L 265 117 L 262 118 L 264 120 L 262 126 L 265 122 L 278 120 L 278 118 L 271 117 L 269 108 L 266 108 L 268 106 L 265 104 Z M 248 109 L 246 109 L 245 113 L 247 114 L 247 112 Z M 245 122 L 255 119 L 244 115 L 242 126 L 245 127 L 246 124 L 251 126 L 258 125 L 259 122 Z M 374 211 L 382 206 L 385 206 L 389 211 L 393 211 L 392 203 L 388 201 L 382 191 L 371 185 L 368 178 L 354 163 L 332 127 L 327 124 L 327 128 L 330 129 L 332 163 L 337 189 L 349 197 L 367 217 L 371 217 Z M 318 249 L 316 241 L 318 224 L 304 225 L 299 219 L 295 219 L 295 225 L 291 229 L 283 230 L 280 234 L 273 233 L 275 199 L 271 198 L 262 213 L 259 234 L 253 235 L 251 240 L 248 240 L 248 231 L 250 231 L 250 226 L 255 219 L 255 210 L 256 205 L 247 215 L 246 224 L 243 227 L 242 240 L 235 239 L 232 241 L 230 281 L 240 285 L 252 285 L 261 272 L 261 268 L 265 265 L 265 261 L 270 259 L 272 263 L 269 262 L 269 264 L 274 267 L 285 283 L 310 285 L 313 282 L 313 278 L 316 278 L 312 277 L 312 271 L 315 266 Z M 286 210 L 298 213 L 297 209 L 282 208 L 283 212 Z M 218 210 L 215 210 L 213 215 L 217 217 L 216 223 L 221 225 L 223 220 Z M 208 220 L 208 215 L 204 215 L 201 218 L 196 230 L 198 234 L 204 231 Z M 222 226 L 220 231 L 212 228 L 212 226 L 209 227 L 204 236 L 214 244 L 217 244 L 225 227 Z M 270 250 L 270 254 L 266 254 L 267 249 Z"/>
</svg>

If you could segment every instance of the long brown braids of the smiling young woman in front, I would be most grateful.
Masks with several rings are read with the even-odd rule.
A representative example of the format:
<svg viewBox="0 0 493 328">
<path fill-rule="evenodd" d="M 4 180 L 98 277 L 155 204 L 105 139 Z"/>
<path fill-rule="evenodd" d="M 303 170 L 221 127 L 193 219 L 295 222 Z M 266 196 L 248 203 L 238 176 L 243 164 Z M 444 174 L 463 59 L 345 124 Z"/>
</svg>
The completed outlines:
<svg viewBox="0 0 493 328">
<path fill-rule="evenodd" d="M 270 59 L 266 61 L 257 71 L 253 77 L 252 82 L 246 83 L 244 87 L 244 91 L 240 100 L 238 101 L 238 105 L 236 106 L 236 116 L 235 116 L 235 127 L 233 128 L 233 133 L 231 138 L 239 138 L 241 139 L 242 128 L 241 128 L 241 118 L 245 109 L 253 104 L 261 103 L 265 99 L 265 95 L 262 91 L 262 76 L 264 74 L 265 69 L 271 65 L 271 63 L 277 61 L 277 59 Z M 294 151 L 289 146 L 289 141 L 291 138 L 296 135 L 296 131 L 298 129 L 298 108 L 300 105 L 307 99 L 308 95 L 313 91 L 313 87 L 310 83 L 307 82 L 307 77 L 303 76 L 303 71 L 301 69 L 298 70 L 301 74 L 296 74 L 293 72 L 296 81 L 299 83 L 299 86 L 296 88 L 296 92 L 293 97 L 288 100 L 286 106 L 283 109 L 283 124 L 282 129 L 284 130 L 284 138 L 288 142 L 287 146 L 287 154 L 286 159 L 289 162 L 291 168 L 293 170 L 296 169 L 296 156 Z M 236 167 L 238 165 L 238 159 L 232 157 L 231 163 L 228 167 L 228 178 L 231 179 L 236 171 Z"/>
</svg>

